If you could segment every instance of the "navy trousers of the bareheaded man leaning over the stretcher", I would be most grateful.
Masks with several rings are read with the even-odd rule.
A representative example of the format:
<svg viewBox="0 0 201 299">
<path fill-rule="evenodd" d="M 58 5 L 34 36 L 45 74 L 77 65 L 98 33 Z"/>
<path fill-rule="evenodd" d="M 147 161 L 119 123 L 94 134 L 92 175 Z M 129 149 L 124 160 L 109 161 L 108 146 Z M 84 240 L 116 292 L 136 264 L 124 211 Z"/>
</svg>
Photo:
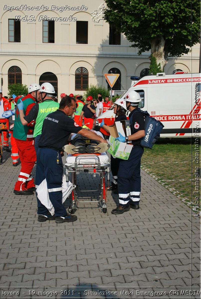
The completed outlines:
<svg viewBox="0 0 201 299">
<path fill-rule="evenodd" d="M 66 216 L 67 212 L 62 204 L 62 177 L 63 163 L 59 154 L 57 164 L 57 151 L 49 148 L 39 148 L 36 164 L 36 187 L 46 179 L 50 201 L 54 207 L 55 216 Z M 37 193 L 36 193 L 37 197 Z M 44 215 L 48 209 L 42 205 L 37 197 L 38 214 Z"/>
</svg>

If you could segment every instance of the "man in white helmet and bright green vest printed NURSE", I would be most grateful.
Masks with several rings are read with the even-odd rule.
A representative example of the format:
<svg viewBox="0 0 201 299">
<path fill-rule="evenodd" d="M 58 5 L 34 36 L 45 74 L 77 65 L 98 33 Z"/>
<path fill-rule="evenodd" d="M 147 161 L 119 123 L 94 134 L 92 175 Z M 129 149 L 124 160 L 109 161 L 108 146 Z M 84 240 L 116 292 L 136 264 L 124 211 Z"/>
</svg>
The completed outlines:
<svg viewBox="0 0 201 299">
<path fill-rule="evenodd" d="M 31 108 L 28 115 L 24 115 L 22 101 L 20 104 L 18 104 L 20 120 L 23 126 L 26 126 L 28 123 L 31 123 L 32 120 L 36 120 L 33 132 L 33 137 L 35 138 L 34 146 L 36 150 L 36 155 L 38 151 L 38 141 L 41 136 L 43 120 L 48 114 L 59 109 L 59 103 L 53 101 L 53 95 L 55 94 L 54 86 L 52 86 L 48 82 L 45 82 L 40 86 L 39 92 L 41 94 L 40 97 L 42 102 L 34 105 Z"/>
</svg>

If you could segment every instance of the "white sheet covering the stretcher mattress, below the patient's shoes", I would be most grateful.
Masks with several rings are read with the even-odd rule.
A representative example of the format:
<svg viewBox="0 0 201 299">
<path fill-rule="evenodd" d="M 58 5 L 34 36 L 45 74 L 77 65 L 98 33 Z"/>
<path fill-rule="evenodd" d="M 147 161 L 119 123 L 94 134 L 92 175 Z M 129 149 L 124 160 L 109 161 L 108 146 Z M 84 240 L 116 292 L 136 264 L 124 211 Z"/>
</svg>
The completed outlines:
<svg viewBox="0 0 201 299">
<path fill-rule="evenodd" d="M 93 155 L 95 155 L 95 154 L 91 154 L 91 155 L 92 155 L 92 158 L 90 158 L 90 159 L 84 158 L 84 155 L 83 155 L 83 158 L 80 159 L 79 164 L 90 164 L 90 163 L 95 163 L 96 164 L 96 161 L 93 158 Z M 109 157 L 106 154 L 106 152 L 101 152 L 101 154 L 98 155 L 97 157 L 99 158 L 101 165 L 109 163 Z M 65 165 L 68 166 L 68 167 L 74 167 L 75 158 L 76 158 L 76 156 L 72 156 L 71 154 L 68 154 L 68 156 L 66 158 L 66 164 Z"/>
</svg>

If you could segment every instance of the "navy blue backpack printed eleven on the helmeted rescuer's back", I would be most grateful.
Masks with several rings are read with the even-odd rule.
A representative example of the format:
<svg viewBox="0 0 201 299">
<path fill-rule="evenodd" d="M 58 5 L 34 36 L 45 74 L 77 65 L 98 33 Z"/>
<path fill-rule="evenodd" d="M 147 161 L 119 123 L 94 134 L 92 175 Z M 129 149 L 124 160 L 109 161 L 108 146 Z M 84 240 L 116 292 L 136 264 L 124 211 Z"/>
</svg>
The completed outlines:
<svg viewBox="0 0 201 299">
<path fill-rule="evenodd" d="M 139 108 L 135 109 L 135 112 L 137 112 L 137 111 L 144 115 L 145 136 L 141 139 L 140 144 L 142 147 L 151 149 L 153 147 L 153 144 L 156 142 L 156 140 L 158 138 L 160 138 L 160 133 L 161 133 L 164 125 L 159 120 L 156 120 L 155 118 L 150 117 L 150 114 L 147 111 L 142 111 Z M 130 118 L 131 126 L 133 126 L 132 118 L 133 118 L 133 115 Z"/>
</svg>

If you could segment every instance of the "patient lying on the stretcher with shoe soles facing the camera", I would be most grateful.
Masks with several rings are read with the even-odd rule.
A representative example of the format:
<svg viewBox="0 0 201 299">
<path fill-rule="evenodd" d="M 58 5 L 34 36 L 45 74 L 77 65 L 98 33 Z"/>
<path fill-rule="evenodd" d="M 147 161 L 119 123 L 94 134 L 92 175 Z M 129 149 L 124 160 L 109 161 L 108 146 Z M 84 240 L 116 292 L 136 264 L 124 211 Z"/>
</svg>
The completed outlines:
<svg viewBox="0 0 201 299">
<path fill-rule="evenodd" d="M 83 126 L 83 129 L 89 130 L 87 126 Z M 91 130 L 95 132 L 97 135 L 100 135 L 103 138 L 101 132 Z M 107 143 L 99 143 L 97 140 L 88 139 L 87 137 L 83 137 L 80 134 L 74 134 L 71 137 L 71 144 L 65 145 L 63 150 L 68 154 L 94 154 L 106 152 L 109 149 L 109 144 Z"/>
</svg>

